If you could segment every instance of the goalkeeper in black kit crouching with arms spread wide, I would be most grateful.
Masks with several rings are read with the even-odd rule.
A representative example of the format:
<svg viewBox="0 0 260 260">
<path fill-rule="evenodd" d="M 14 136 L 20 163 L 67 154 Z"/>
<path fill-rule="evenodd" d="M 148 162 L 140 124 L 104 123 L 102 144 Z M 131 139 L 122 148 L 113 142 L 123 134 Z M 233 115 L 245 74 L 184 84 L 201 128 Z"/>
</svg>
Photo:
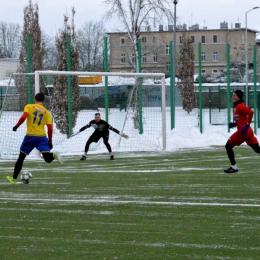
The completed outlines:
<svg viewBox="0 0 260 260">
<path fill-rule="evenodd" d="M 85 146 L 85 154 L 82 155 L 80 160 L 84 161 L 84 160 L 87 159 L 87 153 L 88 153 L 88 149 L 89 149 L 90 144 L 93 143 L 93 142 L 95 142 L 95 143 L 98 142 L 101 137 L 103 138 L 103 142 L 104 142 L 105 146 L 107 147 L 107 150 L 109 151 L 110 160 L 114 160 L 114 155 L 112 153 L 111 146 L 108 143 L 109 130 L 114 131 L 115 133 L 121 135 L 124 138 L 128 138 L 128 135 L 126 135 L 124 133 L 120 133 L 116 128 L 113 128 L 111 125 L 109 125 L 105 120 L 102 120 L 100 113 L 96 113 L 94 120 L 91 120 L 87 125 L 80 128 L 80 130 L 78 132 L 72 134 L 72 136 L 79 134 L 80 132 L 86 130 L 87 128 L 89 128 L 91 126 L 95 129 L 95 131 L 89 137 L 89 139 L 86 143 L 86 146 Z"/>
</svg>

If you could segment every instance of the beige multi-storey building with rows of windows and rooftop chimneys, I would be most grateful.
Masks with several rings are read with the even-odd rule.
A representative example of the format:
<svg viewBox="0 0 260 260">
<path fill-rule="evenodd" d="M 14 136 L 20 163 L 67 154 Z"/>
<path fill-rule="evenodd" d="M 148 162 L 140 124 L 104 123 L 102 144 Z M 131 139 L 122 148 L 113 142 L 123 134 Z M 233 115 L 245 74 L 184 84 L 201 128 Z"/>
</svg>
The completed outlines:
<svg viewBox="0 0 260 260">
<path fill-rule="evenodd" d="M 221 29 L 199 29 L 194 25 L 186 30 L 180 26 L 176 30 L 176 65 L 178 67 L 178 50 L 183 34 L 190 37 L 194 46 L 195 74 L 198 74 L 198 43 L 201 43 L 202 72 L 207 74 L 220 73 L 226 69 L 226 46 L 230 45 L 230 62 L 245 61 L 245 28 L 236 24 L 229 29 L 227 23 L 221 23 Z M 142 45 L 142 72 L 170 74 L 170 42 L 173 41 L 173 26 L 158 31 L 142 31 L 139 39 Z M 247 29 L 248 61 L 253 60 L 253 45 L 256 44 L 257 31 Z M 135 72 L 134 53 L 128 34 L 125 32 L 109 33 L 110 72 Z"/>
</svg>

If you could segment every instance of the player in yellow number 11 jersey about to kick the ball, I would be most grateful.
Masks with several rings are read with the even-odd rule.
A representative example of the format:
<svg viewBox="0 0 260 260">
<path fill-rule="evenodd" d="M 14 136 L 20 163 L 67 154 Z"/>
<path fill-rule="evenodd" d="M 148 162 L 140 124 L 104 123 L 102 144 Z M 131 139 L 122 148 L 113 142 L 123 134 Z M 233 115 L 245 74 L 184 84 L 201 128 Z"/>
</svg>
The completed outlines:
<svg viewBox="0 0 260 260">
<path fill-rule="evenodd" d="M 28 104 L 24 107 L 24 113 L 19 119 L 18 123 L 13 127 L 13 131 L 27 120 L 27 131 L 23 143 L 20 147 L 20 155 L 16 161 L 13 177 L 7 176 L 7 181 L 12 184 L 16 183 L 17 177 L 22 170 L 23 162 L 26 155 L 36 148 L 42 153 L 45 162 L 50 163 L 54 159 L 58 160 L 60 164 L 63 163 L 63 158 L 57 153 L 51 153 L 52 145 L 52 118 L 50 112 L 43 106 L 44 93 L 36 94 L 35 104 Z M 45 125 L 48 129 L 48 138 L 46 137 Z"/>
</svg>

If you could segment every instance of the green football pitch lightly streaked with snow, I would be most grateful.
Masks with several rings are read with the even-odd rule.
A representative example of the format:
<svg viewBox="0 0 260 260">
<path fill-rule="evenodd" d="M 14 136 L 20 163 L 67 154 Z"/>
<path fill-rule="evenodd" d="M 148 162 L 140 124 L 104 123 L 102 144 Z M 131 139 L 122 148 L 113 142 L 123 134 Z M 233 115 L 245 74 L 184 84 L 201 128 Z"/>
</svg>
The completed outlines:
<svg viewBox="0 0 260 260">
<path fill-rule="evenodd" d="M 224 147 L 0 162 L 0 259 L 260 259 L 260 155 Z"/>
</svg>

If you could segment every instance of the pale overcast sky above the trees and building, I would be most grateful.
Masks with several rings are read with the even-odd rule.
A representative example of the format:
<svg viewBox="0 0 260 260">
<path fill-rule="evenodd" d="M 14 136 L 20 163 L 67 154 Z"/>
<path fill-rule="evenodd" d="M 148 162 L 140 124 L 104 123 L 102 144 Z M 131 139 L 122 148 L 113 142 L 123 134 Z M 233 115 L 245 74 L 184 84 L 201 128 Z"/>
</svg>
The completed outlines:
<svg viewBox="0 0 260 260">
<path fill-rule="evenodd" d="M 76 29 L 86 21 L 100 20 L 107 10 L 103 0 L 32 0 L 35 2 L 39 5 L 41 29 L 51 36 L 62 27 L 63 14 L 71 15 L 72 6 L 76 9 Z M 0 0 L 0 21 L 22 25 L 23 9 L 28 3 L 29 0 Z M 219 29 L 220 22 L 226 21 L 229 28 L 238 22 L 245 27 L 245 13 L 256 6 L 260 7 L 260 0 L 179 0 L 177 23 L 186 23 L 188 27 L 198 23 L 200 28 Z M 115 20 L 105 24 L 107 31 L 115 31 L 116 23 Z M 247 14 L 247 27 L 260 31 L 260 8 Z"/>
</svg>

